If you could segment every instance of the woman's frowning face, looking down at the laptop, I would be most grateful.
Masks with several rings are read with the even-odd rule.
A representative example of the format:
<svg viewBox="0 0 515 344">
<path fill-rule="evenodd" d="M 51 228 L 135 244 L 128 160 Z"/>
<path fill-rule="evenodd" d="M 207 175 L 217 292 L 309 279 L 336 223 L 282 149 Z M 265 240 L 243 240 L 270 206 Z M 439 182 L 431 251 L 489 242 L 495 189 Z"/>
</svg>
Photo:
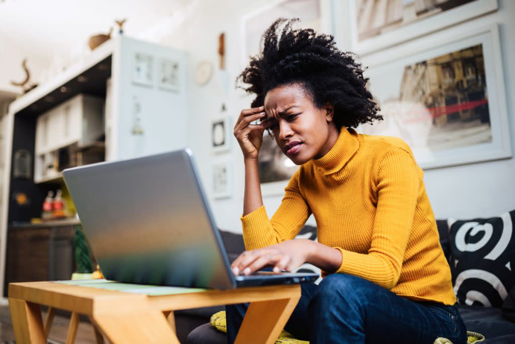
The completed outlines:
<svg viewBox="0 0 515 344">
<path fill-rule="evenodd" d="M 284 154 L 296 165 L 319 159 L 338 138 L 331 105 L 317 108 L 299 84 L 274 88 L 265 96 L 266 124 Z"/>
</svg>

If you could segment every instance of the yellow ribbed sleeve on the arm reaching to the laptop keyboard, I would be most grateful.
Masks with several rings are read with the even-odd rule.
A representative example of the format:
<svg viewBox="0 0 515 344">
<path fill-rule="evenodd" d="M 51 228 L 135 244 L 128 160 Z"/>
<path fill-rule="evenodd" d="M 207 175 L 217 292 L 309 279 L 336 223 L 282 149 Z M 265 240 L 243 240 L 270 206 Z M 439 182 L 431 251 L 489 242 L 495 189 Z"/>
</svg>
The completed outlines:
<svg viewBox="0 0 515 344">
<path fill-rule="evenodd" d="M 402 148 L 382 158 L 374 178 L 377 210 L 367 254 L 336 247 L 342 263 L 337 272 L 363 277 L 384 288 L 396 286 L 408 243 L 420 186 L 418 167 Z"/>
</svg>

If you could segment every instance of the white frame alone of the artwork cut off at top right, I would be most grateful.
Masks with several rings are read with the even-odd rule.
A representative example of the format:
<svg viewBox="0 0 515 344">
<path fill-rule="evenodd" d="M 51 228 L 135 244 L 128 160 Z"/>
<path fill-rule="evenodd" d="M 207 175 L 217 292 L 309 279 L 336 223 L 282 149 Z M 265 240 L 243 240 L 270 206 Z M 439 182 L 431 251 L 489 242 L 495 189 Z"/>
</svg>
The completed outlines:
<svg viewBox="0 0 515 344">
<path fill-rule="evenodd" d="M 451 27 L 480 15 L 496 11 L 498 8 L 497 0 L 472 0 L 470 3 L 427 15 L 424 18 L 401 24 L 396 28 L 386 29 L 386 31 L 382 31 L 379 35 L 360 40 L 358 38 L 359 30 L 356 13 L 358 1 L 360 0 L 349 0 L 348 18 L 351 31 L 351 50 L 361 56 Z"/>
</svg>

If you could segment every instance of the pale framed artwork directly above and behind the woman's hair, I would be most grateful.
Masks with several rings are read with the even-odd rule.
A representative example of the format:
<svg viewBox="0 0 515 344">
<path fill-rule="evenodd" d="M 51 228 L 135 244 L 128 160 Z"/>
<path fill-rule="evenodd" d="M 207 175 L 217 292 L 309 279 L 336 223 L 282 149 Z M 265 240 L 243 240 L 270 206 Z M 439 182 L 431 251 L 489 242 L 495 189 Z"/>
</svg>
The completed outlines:
<svg viewBox="0 0 515 344">
<path fill-rule="evenodd" d="M 261 36 L 278 18 L 299 18 L 299 27 L 331 33 L 330 0 L 273 0 L 242 17 L 242 65 L 259 51 Z M 323 19 L 323 20 L 322 20 Z"/>
</svg>

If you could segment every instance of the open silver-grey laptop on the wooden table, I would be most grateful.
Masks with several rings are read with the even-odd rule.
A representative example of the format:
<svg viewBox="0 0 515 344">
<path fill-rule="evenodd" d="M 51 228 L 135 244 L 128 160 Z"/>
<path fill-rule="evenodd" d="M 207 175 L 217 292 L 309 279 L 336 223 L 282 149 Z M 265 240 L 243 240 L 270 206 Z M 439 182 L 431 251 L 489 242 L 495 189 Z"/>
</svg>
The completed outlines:
<svg viewBox="0 0 515 344">
<path fill-rule="evenodd" d="M 188 148 L 66 169 L 63 177 L 107 280 L 230 289 L 318 278 L 234 275 Z"/>
</svg>

